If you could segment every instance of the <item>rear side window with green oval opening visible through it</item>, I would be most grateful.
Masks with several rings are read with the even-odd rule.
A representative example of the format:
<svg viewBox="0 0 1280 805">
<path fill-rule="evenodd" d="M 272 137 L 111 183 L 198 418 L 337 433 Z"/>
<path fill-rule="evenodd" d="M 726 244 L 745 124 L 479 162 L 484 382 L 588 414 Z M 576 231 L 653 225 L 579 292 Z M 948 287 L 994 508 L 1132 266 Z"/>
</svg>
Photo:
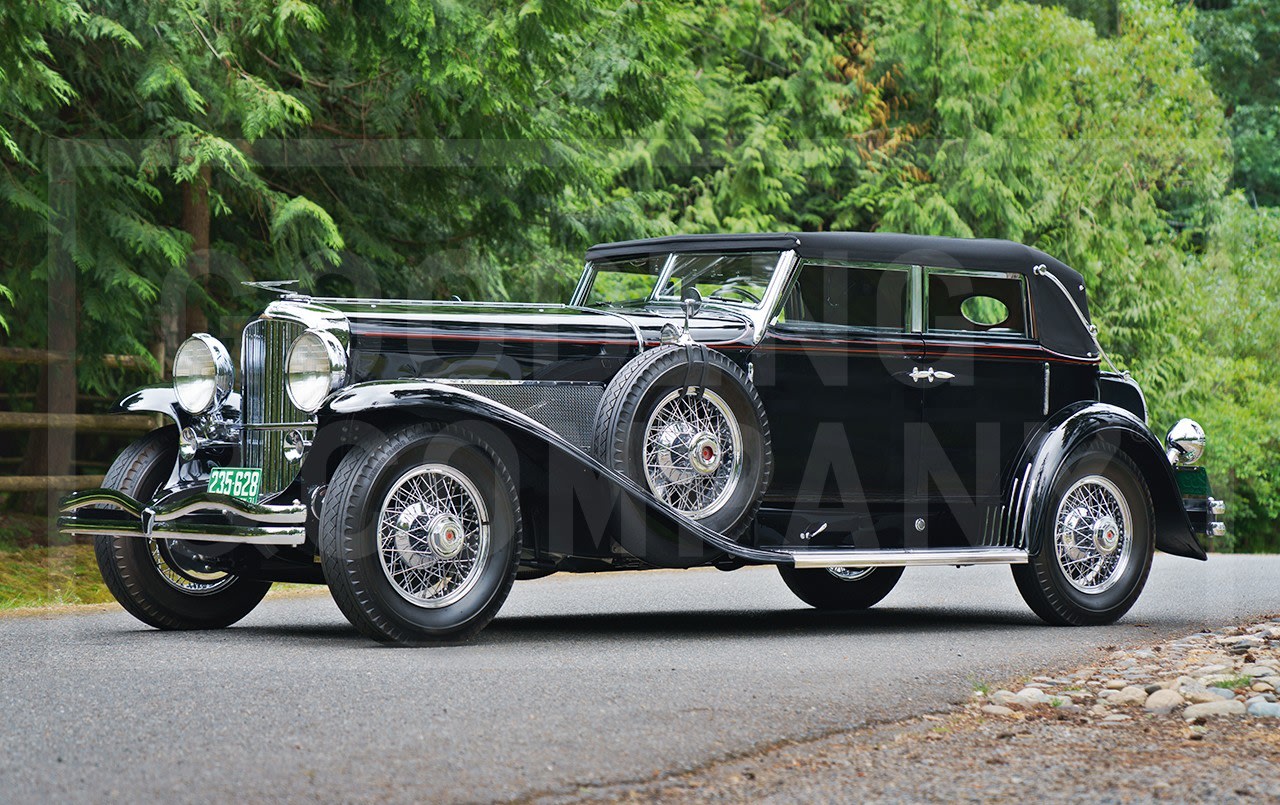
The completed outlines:
<svg viewBox="0 0 1280 805">
<path fill-rule="evenodd" d="M 1021 276 L 928 271 L 925 326 L 933 333 L 1028 335 Z"/>
</svg>

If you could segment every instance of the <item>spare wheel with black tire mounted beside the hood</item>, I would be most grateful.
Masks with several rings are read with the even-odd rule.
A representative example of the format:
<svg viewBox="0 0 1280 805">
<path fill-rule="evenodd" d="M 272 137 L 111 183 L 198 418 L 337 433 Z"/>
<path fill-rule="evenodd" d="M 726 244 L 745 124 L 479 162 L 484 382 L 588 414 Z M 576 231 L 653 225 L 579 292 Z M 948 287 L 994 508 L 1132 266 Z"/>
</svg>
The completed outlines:
<svg viewBox="0 0 1280 805">
<path fill-rule="evenodd" d="M 631 360 L 595 415 L 596 458 L 676 511 L 737 539 L 773 472 L 764 404 L 718 352 L 669 344 Z"/>
</svg>

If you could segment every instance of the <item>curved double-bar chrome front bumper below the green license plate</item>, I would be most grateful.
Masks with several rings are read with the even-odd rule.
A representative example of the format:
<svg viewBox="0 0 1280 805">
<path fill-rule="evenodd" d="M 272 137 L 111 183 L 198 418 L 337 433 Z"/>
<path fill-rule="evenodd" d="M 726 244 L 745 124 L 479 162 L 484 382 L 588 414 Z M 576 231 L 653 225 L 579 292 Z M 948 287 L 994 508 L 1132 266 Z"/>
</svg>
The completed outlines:
<svg viewBox="0 0 1280 805">
<path fill-rule="evenodd" d="M 301 545 L 307 538 L 307 507 L 301 503 L 248 503 L 207 491 L 152 507 L 114 489 L 90 489 L 63 498 L 59 513 L 58 530 L 68 535 L 252 545 Z M 228 522 L 186 520 L 209 514 L 224 516 Z"/>
</svg>

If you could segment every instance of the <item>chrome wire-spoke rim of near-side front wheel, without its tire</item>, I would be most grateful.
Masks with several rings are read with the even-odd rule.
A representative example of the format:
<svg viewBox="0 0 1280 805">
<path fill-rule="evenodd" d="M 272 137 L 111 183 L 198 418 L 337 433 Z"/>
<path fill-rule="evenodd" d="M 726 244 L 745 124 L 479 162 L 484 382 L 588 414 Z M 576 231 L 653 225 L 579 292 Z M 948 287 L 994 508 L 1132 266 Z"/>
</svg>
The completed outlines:
<svg viewBox="0 0 1280 805">
<path fill-rule="evenodd" d="M 448 465 L 403 474 L 378 521 L 378 558 L 392 587 L 417 607 L 467 595 L 489 555 L 489 511 L 476 485 Z"/>
</svg>

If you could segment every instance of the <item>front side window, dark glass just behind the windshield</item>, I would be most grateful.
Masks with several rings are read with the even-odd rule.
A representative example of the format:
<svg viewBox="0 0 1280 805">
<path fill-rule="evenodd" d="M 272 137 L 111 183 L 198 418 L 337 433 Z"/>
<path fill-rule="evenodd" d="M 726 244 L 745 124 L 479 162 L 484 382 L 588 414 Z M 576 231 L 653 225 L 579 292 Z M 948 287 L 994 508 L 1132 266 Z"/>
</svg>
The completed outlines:
<svg viewBox="0 0 1280 805">
<path fill-rule="evenodd" d="M 908 266 L 806 262 L 800 266 L 780 321 L 905 330 L 909 276 Z"/>
</svg>

